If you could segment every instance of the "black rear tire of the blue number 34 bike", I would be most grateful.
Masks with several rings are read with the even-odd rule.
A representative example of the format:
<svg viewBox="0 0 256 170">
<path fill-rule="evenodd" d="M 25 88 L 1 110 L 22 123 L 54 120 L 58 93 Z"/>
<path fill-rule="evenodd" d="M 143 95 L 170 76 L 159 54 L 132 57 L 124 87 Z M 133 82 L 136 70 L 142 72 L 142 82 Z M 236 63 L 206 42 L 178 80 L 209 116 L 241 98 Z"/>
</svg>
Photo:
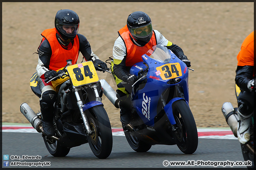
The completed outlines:
<svg viewBox="0 0 256 170">
<path fill-rule="evenodd" d="M 152 145 L 139 140 L 136 136 L 134 136 L 133 131 L 126 129 L 126 127 L 122 124 L 124 135 L 126 136 L 126 140 L 129 143 L 130 147 L 136 152 L 147 152 L 151 148 Z M 127 131 L 128 130 L 128 131 Z"/>
</svg>

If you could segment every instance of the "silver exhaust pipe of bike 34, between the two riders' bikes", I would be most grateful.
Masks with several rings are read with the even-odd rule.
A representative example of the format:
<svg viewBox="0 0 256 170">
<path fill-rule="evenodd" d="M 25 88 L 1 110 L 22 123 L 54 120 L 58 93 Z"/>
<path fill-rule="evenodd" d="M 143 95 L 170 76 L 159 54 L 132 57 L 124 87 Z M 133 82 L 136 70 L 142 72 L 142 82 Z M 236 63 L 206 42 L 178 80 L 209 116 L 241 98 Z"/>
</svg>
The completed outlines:
<svg viewBox="0 0 256 170">
<path fill-rule="evenodd" d="M 105 79 L 100 80 L 101 87 L 103 89 L 103 94 L 110 100 L 110 102 L 116 107 L 119 108 L 118 102 L 119 99 L 116 97 L 117 93 L 114 89 L 107 83 Z"/>
</svg>

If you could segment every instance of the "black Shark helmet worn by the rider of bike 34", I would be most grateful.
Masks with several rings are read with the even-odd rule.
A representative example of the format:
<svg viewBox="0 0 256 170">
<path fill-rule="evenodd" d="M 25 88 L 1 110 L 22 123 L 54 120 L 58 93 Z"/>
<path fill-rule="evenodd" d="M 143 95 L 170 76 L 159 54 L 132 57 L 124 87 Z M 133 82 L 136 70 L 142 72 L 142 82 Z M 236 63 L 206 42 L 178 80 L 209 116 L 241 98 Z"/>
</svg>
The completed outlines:
<svg viewBox="0 0 256 170">
<path fill-rule="evenodd" d="M 151 19 L 146 13 L 142 11 L 131 13 L 127 18 L 127 27 L 130 36 L 139 44 L 146 44 L 150 41 L 153 29 Z"/>
</svg>

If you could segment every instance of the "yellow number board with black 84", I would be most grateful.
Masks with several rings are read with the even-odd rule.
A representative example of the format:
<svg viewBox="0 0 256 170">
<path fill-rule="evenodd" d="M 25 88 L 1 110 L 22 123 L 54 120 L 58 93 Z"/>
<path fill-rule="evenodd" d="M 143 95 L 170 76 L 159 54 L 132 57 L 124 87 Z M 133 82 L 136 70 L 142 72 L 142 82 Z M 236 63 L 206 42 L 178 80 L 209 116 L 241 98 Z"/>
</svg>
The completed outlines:
<svg viewBox="0 0 256 170">
<path fill-rule="evenodd" d="M 74 86 L 94 83 L 99 80 L 92 61 L 74 64 L 66 69 Z"/>
</svg>

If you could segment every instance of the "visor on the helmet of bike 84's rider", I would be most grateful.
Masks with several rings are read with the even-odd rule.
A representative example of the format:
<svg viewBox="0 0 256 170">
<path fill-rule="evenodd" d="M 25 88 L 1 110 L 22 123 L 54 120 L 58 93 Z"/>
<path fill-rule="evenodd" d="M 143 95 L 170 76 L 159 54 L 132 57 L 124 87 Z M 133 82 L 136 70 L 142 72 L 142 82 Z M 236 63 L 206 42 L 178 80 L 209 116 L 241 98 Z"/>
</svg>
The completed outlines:
<svg viewBox="0 0 256 170">
<path fill-rule="evenodd" d="M 74 36 L 78 34 L 79 24 L 65 24 L 57 19 L 56 27 L 66 36 Z"/>
</svg>

